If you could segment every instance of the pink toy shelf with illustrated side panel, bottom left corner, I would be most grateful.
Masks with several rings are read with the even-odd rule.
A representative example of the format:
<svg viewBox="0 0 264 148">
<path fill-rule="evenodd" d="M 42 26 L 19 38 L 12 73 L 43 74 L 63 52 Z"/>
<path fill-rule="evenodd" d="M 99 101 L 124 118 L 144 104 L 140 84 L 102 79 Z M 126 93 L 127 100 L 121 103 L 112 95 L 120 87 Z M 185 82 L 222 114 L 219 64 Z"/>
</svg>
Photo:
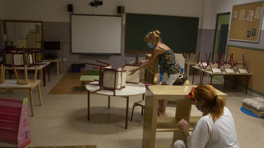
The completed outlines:
<svg viewBox="0 0 264 148">
<path fill-rule="evenodd" d="M 29 129 L 29 101 L 0 97 L 0 142 L 31 146 Z"/>
</svg>

